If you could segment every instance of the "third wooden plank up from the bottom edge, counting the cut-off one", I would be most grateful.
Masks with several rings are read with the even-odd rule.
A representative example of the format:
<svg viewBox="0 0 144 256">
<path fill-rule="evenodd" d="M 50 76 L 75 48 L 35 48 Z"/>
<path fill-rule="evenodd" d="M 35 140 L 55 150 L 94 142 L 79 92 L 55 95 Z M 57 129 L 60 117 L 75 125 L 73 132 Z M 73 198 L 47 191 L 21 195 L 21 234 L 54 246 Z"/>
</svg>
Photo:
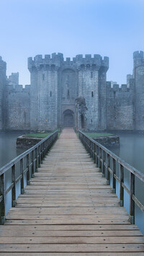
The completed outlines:
<svg viewBox="0 0 144 256">
<path fill-rule="evenodd" d="M 42 235 L 40 232 L 39 236 L 28 236 L 18 237 L 17 234 L 13 234 L 13 237 L 1 237 L 0 244 L 143 244 L 144 237 L 55 237 Z M 16 237 L 14 237 L 16 235 Z M 20 234 L 19 234 L 20 235 Z"/>
</svg>

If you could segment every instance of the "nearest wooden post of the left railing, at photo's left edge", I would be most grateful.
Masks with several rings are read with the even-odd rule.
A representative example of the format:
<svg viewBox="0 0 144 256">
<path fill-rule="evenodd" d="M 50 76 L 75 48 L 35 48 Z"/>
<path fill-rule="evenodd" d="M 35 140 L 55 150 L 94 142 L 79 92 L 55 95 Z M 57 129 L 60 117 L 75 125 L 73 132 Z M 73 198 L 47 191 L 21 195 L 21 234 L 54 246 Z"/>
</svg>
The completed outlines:
<svg viewBox="0 0 144 256">
<path fill-rule="evenodd" d="M 1 225 L 4 225 L 4 221 L 5 221 L 5 206 L 6 206 L 6 185 L 5 185 L 5 173 L 3 173 L 0 176 L 0 195 L 2 195 L 2 200 L 0 203 L 0 214 L 1 214 Z"/>
</svg>

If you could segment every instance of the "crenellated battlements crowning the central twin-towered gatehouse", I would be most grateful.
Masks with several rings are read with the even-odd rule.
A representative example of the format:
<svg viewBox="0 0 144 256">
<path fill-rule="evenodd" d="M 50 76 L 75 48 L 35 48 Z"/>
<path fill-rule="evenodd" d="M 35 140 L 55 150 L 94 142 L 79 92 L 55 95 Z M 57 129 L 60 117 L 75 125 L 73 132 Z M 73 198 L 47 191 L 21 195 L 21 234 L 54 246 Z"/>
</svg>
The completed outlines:
<svg viewBox="0 0 144 256">
<path fill-rule="evenodd" d="M 44 69 L 59 69 L 61 64 L 73 65 L 77 69 L 81 68 L 89 68 L 100 69 L 103 67 L 106 71 L 109 69 L 109 58 L 104 57 L 99 54 L 94 54 L 94 57 L 91 57 L 91 54 L 86 54 L 83 57 L 82 54 L 76 55 L 71 61 L 71 58 L 66 58 L 66 61 L 63 59 L 63 53 L 52 53 L 52 55 L 45 55 L 45 58 L 42 58 L 42 55 L 35 56 L 34 59 L 32 57 L 28 58 L 28 69 L 32 71 L 32 69 L 40 70 Z"/>
</svg>

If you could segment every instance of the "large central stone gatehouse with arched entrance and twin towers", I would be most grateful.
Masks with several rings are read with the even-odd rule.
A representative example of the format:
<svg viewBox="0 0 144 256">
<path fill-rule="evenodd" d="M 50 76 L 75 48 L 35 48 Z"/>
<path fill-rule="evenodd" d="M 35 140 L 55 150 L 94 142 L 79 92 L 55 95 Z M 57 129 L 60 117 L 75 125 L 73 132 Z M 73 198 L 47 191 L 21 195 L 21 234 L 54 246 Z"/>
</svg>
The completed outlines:
<svg viewBox="0 0 144 256">
<path fill-rule="evenodd" d="M 28 58 L 31 74 L 30 128 L 104 130 L 109 58 L 95 54 L 63 59 L 62 53 Z"/>
</svg>

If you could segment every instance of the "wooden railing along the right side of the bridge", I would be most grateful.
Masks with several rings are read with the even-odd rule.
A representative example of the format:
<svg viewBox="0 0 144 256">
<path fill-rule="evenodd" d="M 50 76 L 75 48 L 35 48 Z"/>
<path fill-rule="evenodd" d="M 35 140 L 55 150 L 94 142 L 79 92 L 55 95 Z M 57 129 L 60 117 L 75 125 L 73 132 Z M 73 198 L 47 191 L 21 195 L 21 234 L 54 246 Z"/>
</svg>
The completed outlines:
<svg viewBox="0 0 144 256">
<path fill-rule="evenodd" d="M 107 178 L 107 184 L 110 184 L 110 174 L 112 175 L 113 193 L 116 193 L 117 182 L 120 183 L 120 206 L 124 206 L 124 190 L 130 195 L 130 222 L 135 224 L 135 204 L 144 212 L 143 204 L 135 196 L 135 177 L 141 180 L 144 185 L 143 173 L 127 164 L 119 156 L 116 156 L 112 151 L 109 151 L 89 136 L 86 136 L 85 133 L 78 131 L 78 136 L 84 144 L 86 151 L 89 152 L 91 158 L 96 163 L 96 167 L 99 167 L 103 177 Z M 119 177 L 116 175 L 116 165 L 119 168 Z M 129 189 L 124 184 L 124 169 L 130 173 Z M 142 191 L 142 193 L 144 192 Z"/>
</svg>

